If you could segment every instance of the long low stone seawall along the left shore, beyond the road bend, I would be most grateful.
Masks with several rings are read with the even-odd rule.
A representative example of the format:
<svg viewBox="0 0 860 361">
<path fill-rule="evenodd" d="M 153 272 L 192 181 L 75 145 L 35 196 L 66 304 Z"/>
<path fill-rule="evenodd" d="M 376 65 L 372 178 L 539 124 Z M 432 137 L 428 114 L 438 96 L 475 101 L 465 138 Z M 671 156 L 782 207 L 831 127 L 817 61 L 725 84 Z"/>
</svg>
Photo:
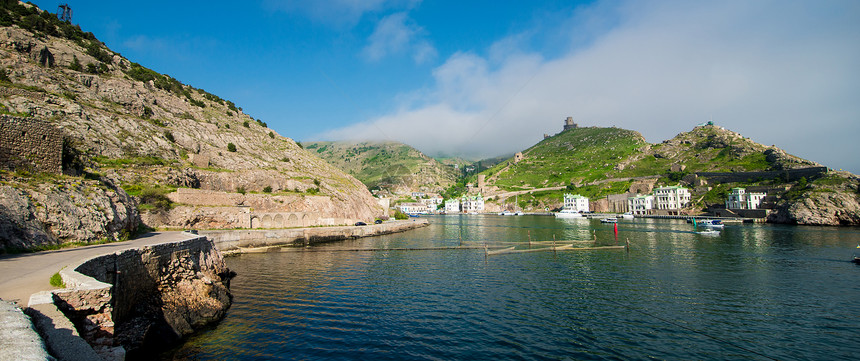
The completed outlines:
<svg viewBox="0 0 860 361">
<path fill-rule="evenodd" d="M 268 230 L 200 231 L 224 253 L 242 253 L 243 249 L 288 245 L 312 245 L 362 237 L 405 232 L 426 227 L 426 219 L 388 221 L 366 226 L 309 227 Z"/>
</svg>

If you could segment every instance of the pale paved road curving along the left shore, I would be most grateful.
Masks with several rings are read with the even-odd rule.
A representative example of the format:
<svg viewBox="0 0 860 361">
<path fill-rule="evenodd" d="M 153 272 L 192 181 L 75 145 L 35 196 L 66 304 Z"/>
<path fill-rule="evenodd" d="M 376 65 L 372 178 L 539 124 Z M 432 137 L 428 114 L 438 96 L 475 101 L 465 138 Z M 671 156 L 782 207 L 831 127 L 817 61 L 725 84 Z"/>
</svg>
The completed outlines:
<svg viewBox="0 0 860 361">
<path fill-rule="evenodd" d="M 189 235 L 182 232 L 156 232 L 125 242 L 3 255 L 0 256 L 0 299 L 27 306 L 31 294 L 56 288 L 50 284 L 51 276 L 65 266 L 104 254 L 187 238 Z"/>
</svg>

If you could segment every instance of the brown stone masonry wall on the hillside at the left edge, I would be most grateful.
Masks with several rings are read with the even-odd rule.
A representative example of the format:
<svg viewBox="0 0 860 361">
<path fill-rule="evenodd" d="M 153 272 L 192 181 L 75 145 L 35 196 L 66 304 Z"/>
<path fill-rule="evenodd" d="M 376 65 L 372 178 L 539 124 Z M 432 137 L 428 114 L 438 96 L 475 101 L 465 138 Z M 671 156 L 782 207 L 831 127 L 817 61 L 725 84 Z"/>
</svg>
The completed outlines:
<svg viewBox="0 0 860 361">
<path fill-rule="evenodd" d="M 0 167 L 63 171 L 63 135 L 48 122 L 0 115 Z"/>
</svg>

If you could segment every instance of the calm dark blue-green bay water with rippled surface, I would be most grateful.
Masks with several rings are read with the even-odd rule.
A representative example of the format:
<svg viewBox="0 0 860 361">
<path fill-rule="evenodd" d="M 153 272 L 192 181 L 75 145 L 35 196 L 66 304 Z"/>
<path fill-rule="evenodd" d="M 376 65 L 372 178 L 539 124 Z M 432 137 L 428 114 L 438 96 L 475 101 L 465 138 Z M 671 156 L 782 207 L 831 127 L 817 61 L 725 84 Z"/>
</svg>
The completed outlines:
<svg viewBox="0 0 860 361">
<path fill-rule="evenodd" d="M 548 216 L 431 226 L 227 259 L 234 303 L 176 360 L 853 359 L 860 229 Z M 527 241 L 624 250 L 517 253 Z M 596 238 L 596 241 L 595 241 Z M 545 244 L 533 244 L 540 248 Z M 347 249 L 388 249 L 346 251 Z"/>
</svg>

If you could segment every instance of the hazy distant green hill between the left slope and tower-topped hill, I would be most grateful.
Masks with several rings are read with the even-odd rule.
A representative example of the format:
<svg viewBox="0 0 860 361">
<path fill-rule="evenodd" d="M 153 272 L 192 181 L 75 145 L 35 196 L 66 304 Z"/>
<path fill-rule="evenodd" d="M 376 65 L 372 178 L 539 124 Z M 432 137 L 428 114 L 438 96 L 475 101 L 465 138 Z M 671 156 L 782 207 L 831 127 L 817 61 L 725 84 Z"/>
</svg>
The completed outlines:
<svg viewBox="0 0 860 361">
<path fill-rule="evenodd" d="M 403 143 L 309 142 L 303 145 L 383 195 L 404 195 L 413 191 L 439 193 L 457 180 L 453 167 Z"/>
</svg>

